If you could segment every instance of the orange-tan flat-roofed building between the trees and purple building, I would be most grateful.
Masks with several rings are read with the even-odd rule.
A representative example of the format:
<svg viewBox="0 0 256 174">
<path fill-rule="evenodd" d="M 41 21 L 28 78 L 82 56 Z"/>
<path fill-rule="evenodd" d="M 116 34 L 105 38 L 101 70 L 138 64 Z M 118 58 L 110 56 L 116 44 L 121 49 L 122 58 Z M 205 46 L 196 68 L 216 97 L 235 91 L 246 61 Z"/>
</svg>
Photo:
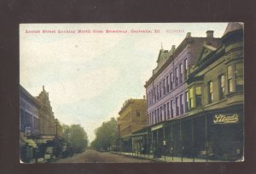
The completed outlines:
<svg viewBox="0 0 256 174">
<path fill-rule="evenodd" d="M 118 126 L 121 149 L 132 149 L 132 133 L 147 125 L 146 99 L 128 99 L 119 111 Z"/>
</svg>

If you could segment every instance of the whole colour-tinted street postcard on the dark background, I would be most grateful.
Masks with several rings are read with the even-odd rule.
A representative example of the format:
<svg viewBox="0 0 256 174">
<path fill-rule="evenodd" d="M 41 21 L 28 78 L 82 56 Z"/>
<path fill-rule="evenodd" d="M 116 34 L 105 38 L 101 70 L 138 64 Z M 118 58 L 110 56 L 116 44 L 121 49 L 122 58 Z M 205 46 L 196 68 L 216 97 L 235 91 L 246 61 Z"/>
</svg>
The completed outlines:
<svg viewBox="0 0 256 174">
<path fill-rule="evenodd" d="M 244 24 L 20 24 L 20 163 L 244 161 Z"/>
</svg>

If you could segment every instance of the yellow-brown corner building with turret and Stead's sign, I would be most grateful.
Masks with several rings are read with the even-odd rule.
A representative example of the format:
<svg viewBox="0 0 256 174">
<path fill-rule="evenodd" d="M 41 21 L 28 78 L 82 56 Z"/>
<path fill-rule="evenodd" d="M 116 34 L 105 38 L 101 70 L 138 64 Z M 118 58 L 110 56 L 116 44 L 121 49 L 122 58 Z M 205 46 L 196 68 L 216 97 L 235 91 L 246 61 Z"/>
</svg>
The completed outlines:
<svg viewBox="0 0 256 174">
<path fill-rule="evenodd" d="M 243 155 L 243 27 L 229 23 L 218 47 L 204 43 L 189 70 L 189 117 L 192 147 L 212 158 Z M 193 125 L 194 124 L 194 125 Z M 191 126 L 194 126 L 191 127 Z M 193 129 L 193 130 L 192 130 Z"/>
</svg>

